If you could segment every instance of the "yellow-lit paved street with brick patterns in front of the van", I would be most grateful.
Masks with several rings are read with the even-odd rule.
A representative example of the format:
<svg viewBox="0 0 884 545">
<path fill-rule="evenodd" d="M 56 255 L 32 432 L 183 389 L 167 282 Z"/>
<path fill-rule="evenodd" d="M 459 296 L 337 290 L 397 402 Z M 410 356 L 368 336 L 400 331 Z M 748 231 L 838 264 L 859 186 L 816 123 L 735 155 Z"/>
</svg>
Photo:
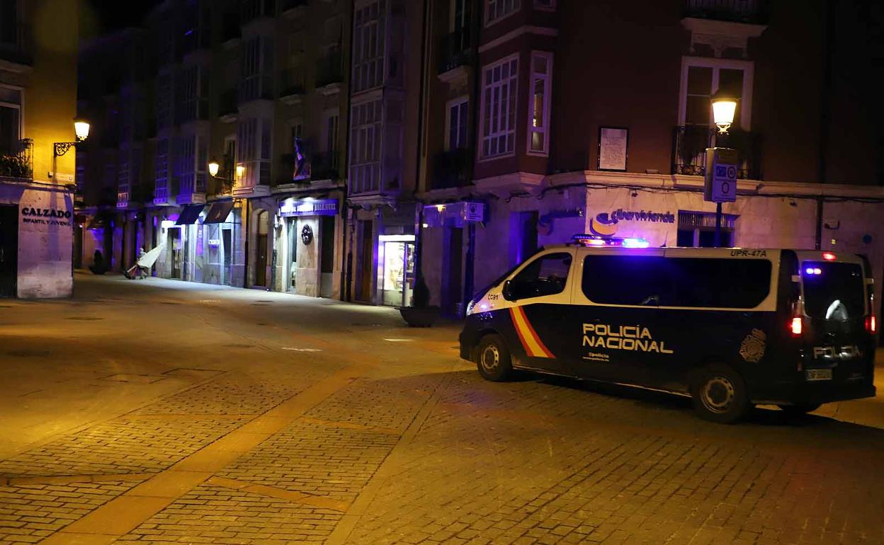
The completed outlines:
<svg viewBox="0 0 884 545">
<path fill-rule="evenodd" d="M 881 396 L 721 426 L 392 309 L 76 282 L 0 299 L 0 543 L 884 542 Z"/>
</svg>

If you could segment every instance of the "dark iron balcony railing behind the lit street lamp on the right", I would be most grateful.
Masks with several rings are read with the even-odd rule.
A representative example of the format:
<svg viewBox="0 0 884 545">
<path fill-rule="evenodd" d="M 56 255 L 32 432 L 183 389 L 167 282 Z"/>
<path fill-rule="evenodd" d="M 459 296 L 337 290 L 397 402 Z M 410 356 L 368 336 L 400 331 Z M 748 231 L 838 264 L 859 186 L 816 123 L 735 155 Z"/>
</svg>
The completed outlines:
<svg viewBox="0 0 884 545">
<path fill-rule="evenodd" d="M 731 129 L 721 137 L 718 129 L 698 125 L 675 127 L 672 148 L 672 173 L 705 176 L 706 148 L 734 148 L 739 157 L 736 177 L 760 180 L 761 138 L 756 132 Z"/>
</svg>

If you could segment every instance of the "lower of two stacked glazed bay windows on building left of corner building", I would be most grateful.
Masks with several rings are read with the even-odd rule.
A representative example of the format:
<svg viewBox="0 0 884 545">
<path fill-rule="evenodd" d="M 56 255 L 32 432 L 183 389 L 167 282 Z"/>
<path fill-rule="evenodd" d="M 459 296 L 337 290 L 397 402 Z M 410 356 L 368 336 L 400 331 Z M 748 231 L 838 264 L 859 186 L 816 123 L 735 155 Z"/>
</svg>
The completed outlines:
<svg viewBox="0 0 884 545">
<path fill-rule="evenodd" d="M 350 132 L 350 190 L 378 191 L 381 179 L 381 101 L 354 104 Z"/>
</svg>

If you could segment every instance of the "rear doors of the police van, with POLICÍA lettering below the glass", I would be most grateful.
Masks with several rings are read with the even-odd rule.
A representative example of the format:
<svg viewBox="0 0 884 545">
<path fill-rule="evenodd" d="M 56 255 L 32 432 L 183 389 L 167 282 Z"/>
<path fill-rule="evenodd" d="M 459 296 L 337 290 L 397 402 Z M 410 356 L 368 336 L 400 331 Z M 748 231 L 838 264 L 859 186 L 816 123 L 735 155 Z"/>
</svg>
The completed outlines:
<svg viewBox="0 0 884 545">
<path fill-rule="evenodd" d="M 805 380 L 857 382 L 872 372 L 863 262 L 854 255 L 798 253 L 804 299 Z"/>
</svg>

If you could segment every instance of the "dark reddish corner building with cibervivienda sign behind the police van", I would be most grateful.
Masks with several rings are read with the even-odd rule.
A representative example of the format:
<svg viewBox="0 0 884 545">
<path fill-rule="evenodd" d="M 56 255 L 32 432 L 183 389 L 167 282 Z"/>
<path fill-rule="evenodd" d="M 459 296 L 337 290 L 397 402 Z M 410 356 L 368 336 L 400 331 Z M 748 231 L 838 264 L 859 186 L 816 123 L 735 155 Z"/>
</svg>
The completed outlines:
<svg viewBox="0 0 884 545">
<path fill-rule="evenodd" d="M 425 82 L 421 246 L 449 314 L 538 246 L 594 228 L 712 245 L 714 204 L 700 190 L 715 145 L 740 157 L 728 246 L 869 254 L 880 285 L 869 82 L 884 56 L 867 3 L 430 4 L 426 60 L 438 70 Z M 727 141 L 712 123 L 719 89 L 739 98 Z"/>
</svg>

